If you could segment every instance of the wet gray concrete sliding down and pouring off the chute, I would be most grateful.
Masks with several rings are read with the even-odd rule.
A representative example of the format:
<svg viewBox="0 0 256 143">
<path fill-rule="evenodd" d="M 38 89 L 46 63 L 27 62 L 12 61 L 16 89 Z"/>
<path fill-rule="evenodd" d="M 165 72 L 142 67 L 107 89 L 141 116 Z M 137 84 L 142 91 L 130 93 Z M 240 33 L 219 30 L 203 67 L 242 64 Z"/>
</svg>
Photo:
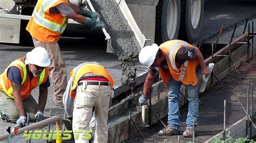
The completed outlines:
<svg viewBox="0 0 256 143">
<path fill-rule="evenodd" d="M 91 3 L 95 11 L 100 14 L 100 20 L 107 25 L 106 31 L 110 34 L 114 53 L 122 61 L 122 83 L 134 85 L 132 79 L 136 75 L 132 66 L 134 66 L 137 59 L 136 56 L 140 51 L 140 46 L 131 27 L 115 0 L 92 0 Z"/>
</svg>

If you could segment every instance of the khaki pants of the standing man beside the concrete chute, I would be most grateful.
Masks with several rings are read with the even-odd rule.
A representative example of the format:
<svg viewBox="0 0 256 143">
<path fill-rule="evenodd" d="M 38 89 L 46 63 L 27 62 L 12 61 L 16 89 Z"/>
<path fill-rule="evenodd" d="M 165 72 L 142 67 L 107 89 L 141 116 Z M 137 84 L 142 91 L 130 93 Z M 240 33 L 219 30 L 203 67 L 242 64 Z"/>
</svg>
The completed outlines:
<svg viewBox="0 0 256 143">
<path fill-rule="evenodd" d="M 33 38 L 35 47 L 43 47 L 49 54 L 51 65 L 49 66 L 55 103 L 63 104 L 62 97 L 66 90 L 66 66 L 60 53 L 58 42 L 46 43 Z"/>
</svg>

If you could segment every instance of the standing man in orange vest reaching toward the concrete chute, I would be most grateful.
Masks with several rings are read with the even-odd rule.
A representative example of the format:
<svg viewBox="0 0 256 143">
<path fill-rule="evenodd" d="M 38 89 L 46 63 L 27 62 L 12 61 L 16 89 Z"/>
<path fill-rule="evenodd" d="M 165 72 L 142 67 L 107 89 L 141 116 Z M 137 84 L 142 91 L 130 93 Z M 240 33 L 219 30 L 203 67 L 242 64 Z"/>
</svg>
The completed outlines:
<svg viewBox="0 0 256 143">
<path fill-rule="evenodd" d="M 90 27 L 105 27 L 97 12 L 88 11 L 70 3 L 68 0 L 38 0 L 26 27 L 30 32 L 35 47 L 41 46 L 48 51 L 51 65 L 49 66 L 55 105 L 63 106 L 67 79 L 66 67 L 58 40 L 64 32 L 68 19 L 71 18 L 80 24 Z"/>
</svg>

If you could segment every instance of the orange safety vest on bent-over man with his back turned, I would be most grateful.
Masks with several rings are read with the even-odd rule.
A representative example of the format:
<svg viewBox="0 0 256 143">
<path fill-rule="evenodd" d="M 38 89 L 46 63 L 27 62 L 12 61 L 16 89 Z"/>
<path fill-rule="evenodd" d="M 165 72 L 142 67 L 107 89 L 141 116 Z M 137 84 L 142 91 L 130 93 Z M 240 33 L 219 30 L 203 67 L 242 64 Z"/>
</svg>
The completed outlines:
<svg viewBox="0 0 256 143">
<path fill-rule="evenodd" d="M 111 89 L 113 88 L 114 80 L 109 75 L 109 73 L 107 73 L 106 69 L 102 65 L 100 65 L 97 62 L 85 62 L 85 63 L 82 63 L 79 66 L 75 67 L 74 69 L 72 69 L 69 73 L 70 76 L 72 77 L 72 83 L 73 83 L 69 95 L 73 99 L 75 99 L 75 97 L 76 97 L 76 88 L 77 88 L 78 81 L 86 73 L 92 73 L 95 75 L 101 75 L 101 76 L 106 77 L 107 80 L 109 80 L 109 82 L 110 82 Z"/>
</svg>

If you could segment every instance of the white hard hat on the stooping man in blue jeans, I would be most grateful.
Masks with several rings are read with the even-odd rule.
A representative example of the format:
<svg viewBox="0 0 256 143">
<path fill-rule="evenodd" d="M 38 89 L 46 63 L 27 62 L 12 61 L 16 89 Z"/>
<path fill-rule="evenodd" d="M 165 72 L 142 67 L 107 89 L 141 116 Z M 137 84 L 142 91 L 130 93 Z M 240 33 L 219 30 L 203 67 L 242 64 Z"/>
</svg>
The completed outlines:
<svg viewBox="0 0 256 143">
<path fill-rule="evenodd" d="M 152 44 L 151 46 L 145 46 L 142 48 L 139 52 L 139 62 L 146 66 L 146 68 L 149 68 L 156 58 L 158 49 L 159 47 L 157 44 Z"/>
</svg>

